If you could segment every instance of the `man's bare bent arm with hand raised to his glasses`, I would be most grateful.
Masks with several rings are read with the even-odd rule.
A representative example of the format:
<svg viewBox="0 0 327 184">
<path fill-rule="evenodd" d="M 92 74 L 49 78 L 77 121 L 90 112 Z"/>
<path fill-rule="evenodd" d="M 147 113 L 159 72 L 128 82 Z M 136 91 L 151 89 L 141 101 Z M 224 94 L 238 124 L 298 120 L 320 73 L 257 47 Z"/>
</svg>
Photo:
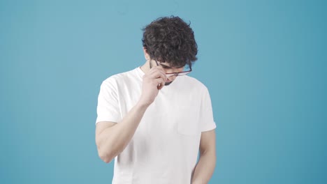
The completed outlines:
<svg viewBox="0 0 327 184">
<path fill-rule="evenodd" d="M 159 90 L 166 82 L 166 74 L 161 66 L 153 67 L 143 75 L 142 93 L 137 104 L 122 118 L 119 123 L 104 121 L 96 125 L 96 146 L 99 157 L 110 162 L 133 138 L 143 115 L 157 97 Z M 160 84 L 160 86 L 158 86 Z"/>
</svg>

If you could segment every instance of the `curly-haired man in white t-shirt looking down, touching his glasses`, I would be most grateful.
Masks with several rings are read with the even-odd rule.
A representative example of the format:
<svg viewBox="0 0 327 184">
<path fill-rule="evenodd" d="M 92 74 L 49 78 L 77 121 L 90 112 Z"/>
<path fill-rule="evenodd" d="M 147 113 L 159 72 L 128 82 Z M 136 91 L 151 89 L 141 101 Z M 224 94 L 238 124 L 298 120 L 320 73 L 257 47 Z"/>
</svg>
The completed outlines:
<svg viewBox="0 0 327 184">
<path fill-rule="evenodd" d="M 101 84 L 99 157 L 115 158 L 114 184 L 208 183 L 216 125 L 208 89 L 187 76 L 198 52 L 194 32 L 180 17 L 143 31 L 145 64 Z"/>
</svg>

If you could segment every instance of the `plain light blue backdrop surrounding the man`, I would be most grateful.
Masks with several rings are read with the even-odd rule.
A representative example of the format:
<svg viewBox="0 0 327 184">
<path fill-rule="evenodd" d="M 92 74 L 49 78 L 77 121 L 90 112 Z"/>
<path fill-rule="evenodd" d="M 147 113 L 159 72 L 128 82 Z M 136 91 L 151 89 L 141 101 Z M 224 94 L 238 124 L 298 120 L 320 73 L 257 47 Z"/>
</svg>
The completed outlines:
<svg viewBox="0 0 327 184">
<path fill-rule="evenodd" d="M 101 82 L 145 60 L 142 31 L 191 21 L 210 90 L 210 183 L 326 183 L 326 1 L 0 1 L 0 183 L 111 183 Z"/>
</svg>

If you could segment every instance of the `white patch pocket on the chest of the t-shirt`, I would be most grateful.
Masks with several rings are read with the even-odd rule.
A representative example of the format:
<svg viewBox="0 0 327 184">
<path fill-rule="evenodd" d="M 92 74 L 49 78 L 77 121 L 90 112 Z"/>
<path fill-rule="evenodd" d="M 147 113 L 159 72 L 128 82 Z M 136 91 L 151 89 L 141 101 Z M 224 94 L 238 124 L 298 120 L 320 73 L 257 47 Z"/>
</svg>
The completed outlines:
<svg viewBox="0 0 327 184">
<path fill-rule="evenodd" d="M 191 136 L 201 133 L 198 108 L 180 106 L 175 113 L 177 134 Z"/>
</svg>

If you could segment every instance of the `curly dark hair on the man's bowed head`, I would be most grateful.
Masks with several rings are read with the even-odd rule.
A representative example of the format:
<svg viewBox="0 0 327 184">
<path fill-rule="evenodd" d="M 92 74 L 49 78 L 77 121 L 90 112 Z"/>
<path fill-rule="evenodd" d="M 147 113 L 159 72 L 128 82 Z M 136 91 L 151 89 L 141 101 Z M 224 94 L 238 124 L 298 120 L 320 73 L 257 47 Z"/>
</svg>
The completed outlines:
<svg viewBox="0 0 327 184">
<path fill-rule="evenodd" d="M 143 29 L 143 47 L 151 59 L 180 68 L 196 61 L 194 31 L 180 17 L 160 17 Z"/>
</svg>

